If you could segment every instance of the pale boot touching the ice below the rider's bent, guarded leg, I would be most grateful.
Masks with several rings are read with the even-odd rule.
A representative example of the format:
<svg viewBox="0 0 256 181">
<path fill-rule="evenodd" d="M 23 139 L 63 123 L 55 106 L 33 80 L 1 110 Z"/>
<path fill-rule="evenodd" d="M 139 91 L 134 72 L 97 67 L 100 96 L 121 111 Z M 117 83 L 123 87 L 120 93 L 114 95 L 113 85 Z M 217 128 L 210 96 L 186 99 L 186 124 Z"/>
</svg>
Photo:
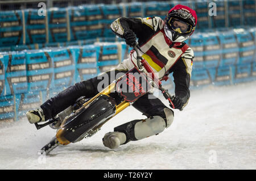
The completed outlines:
<svg viewBox="0 0 256 181">
<path fill-rule="evenodd" d="M 109 132 L 106 133 L 104 138 L 102 138 L 104 146 L 110 149 L 116 149 L 118 146 L 122 145 L 126 141 L 125 133 L 121 132 Z"/>
</svg>

